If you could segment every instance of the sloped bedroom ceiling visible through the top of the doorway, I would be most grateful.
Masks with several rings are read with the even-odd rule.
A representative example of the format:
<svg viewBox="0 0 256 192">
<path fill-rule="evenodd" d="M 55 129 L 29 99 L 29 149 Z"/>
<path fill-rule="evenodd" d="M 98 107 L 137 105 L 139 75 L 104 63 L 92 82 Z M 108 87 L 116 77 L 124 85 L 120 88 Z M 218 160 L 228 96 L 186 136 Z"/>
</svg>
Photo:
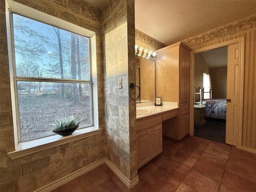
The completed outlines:
<svg viewBox="0 0 256 192">
<path fill-rule="evenodd" d="M 228 65 L 228 46 L 199 53 L 209 68 L 224 67 Z"/>
</svg>

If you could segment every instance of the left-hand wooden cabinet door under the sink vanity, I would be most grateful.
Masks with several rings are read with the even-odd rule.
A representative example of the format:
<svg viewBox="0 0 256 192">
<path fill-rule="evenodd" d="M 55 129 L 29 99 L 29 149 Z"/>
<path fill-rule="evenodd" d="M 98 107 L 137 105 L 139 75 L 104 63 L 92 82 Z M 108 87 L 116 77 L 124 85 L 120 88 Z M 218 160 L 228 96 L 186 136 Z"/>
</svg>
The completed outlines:
<svg viewBox="0 0 256 192">
<path fill-rule="evenodd" d="M 137 134 L 137 168 L 150 160 L 150 129 Z"/>
</svg>

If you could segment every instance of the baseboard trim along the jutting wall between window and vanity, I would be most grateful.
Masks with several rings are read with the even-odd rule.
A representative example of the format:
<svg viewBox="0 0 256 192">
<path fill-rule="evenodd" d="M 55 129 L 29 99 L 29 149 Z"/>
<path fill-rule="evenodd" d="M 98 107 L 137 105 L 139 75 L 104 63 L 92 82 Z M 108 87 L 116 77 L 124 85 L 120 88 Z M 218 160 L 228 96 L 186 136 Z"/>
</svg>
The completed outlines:
<svg viewBox="0 0 256 192">
<path fill-rule="evenodd" d="M 105 163 L 106 165 L 114 172 L 114 174 L 116 174 L 116 176 L 118 176 L 118 178 L 129 188 L 133 188 L 138 182 L 139 182 L 139 177 L 137 176 L 136 178 L 134 178 L 133 180 L 128 179 L 124 174 L 122 174 L 122 172 L 116 168 L 116 166 L 114 166 L 112 164 L 112 162 L 110 162 L 107 158 L 105 158 Z"/>
</svg>

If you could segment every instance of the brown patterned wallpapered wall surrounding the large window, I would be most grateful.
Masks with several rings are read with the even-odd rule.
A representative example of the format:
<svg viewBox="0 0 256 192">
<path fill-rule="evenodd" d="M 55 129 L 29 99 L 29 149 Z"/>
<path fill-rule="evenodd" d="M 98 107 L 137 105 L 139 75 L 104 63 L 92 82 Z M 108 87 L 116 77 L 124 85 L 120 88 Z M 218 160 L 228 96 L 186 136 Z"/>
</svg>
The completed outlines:
<svg viewBox="0 0 256 192">
<path fill-rule="evenodd" d="M 104 74 L 101 11 L 80 0 L 16 0 L 57 18 L 96 32 L 99 127 L 104 129 Z M 14 150 L 5 1 L 0 0 L 0 191 L 31 192 L 105 158 L 104 134 L 10 159 Z"/>
</svg>

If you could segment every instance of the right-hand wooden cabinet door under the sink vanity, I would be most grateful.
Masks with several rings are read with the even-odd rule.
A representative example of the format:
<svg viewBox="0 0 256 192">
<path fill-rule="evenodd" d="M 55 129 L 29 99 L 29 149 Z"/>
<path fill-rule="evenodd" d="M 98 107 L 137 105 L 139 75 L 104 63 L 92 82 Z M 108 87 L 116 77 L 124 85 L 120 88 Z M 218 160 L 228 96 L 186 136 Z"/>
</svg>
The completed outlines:
<svg viewBox="0 0 256 192">
<path fill-rule="evenodd" d="M 162 152 L 162 124 L 150 129 L 151 159 Z"/>
</svg>

